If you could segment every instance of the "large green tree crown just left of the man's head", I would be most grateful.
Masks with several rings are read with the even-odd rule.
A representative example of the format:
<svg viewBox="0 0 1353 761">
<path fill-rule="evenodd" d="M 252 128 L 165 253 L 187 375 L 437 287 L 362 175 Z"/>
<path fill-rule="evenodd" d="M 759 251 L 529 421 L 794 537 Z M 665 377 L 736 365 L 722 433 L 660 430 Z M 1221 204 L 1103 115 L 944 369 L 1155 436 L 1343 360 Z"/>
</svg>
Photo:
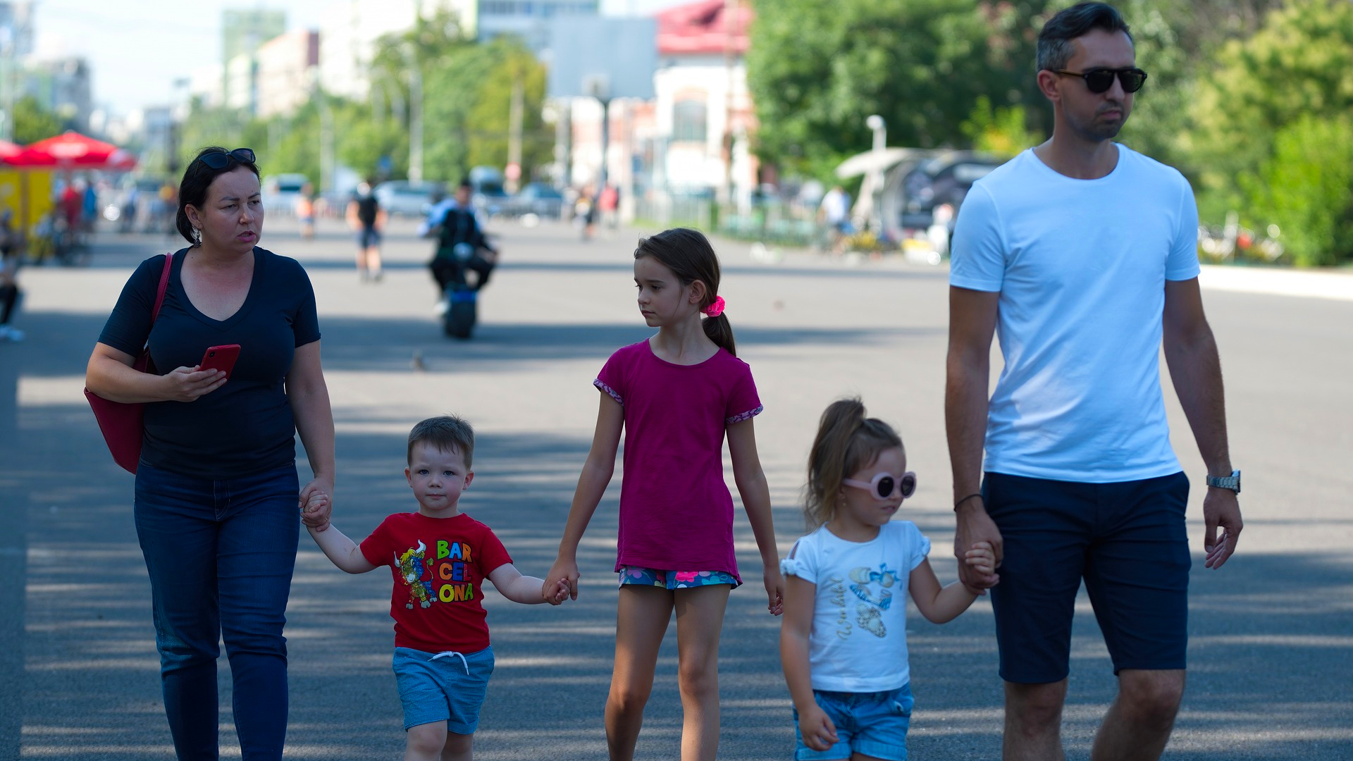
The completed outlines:
<svg viewBox="0 0 1353 761">
<path fill-rule="evenodd" d="M 825 177 L 869 149 L 865 118 L 901 146 L 965 146 L 980 96 L 1009 107 L 1036 95 L 1031 76 L 1043 3 L 978 0 L 764 0 L 756 5 L 748 87 L 758 153 Z M 1040 121 L 1042 114 L 1036 114 Z"/>
</svg>

